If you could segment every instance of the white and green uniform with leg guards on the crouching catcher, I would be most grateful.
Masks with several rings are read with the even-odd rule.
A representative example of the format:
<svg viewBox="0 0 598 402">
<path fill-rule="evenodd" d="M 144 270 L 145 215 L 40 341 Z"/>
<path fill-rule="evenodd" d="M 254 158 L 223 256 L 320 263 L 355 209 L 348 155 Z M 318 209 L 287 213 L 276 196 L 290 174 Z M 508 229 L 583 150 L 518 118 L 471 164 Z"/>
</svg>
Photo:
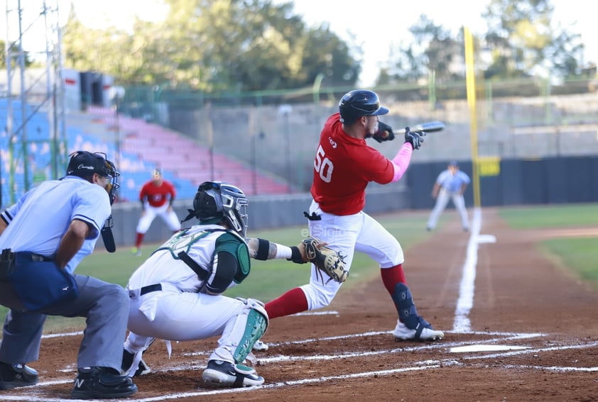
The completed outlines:
<svg viewBox="0 0 598 402">
<path fill-rule="evenodd" d="M 259 301 L 222 293 L 241 283 L 250 269 L 247 244 L 233 230 L 194 225 L 176 233 L 129 280 L 131 332 L 125 349 L 138 362 L 154 338 L 221 335 L 210 360 L 241 364 L 265 332 L 268 315 Z"/>
</svg>

